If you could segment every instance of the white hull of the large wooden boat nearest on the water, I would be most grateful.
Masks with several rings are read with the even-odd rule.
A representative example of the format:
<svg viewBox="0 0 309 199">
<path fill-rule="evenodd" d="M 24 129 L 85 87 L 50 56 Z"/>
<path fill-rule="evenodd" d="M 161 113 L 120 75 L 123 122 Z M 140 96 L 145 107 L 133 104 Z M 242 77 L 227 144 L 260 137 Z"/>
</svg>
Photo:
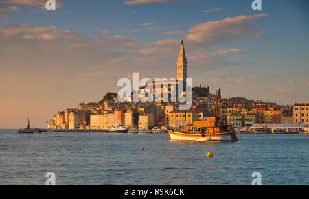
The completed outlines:
<svg viewBox="0 0 309 199">
<path fill-rule="evenodd" d="M 233 132 L 224 132 L 217 134 L 187 134 L 181 132 L 174 132 L 172 130 L 168 130 L 168 134 L 170 134 L 170 139 L 174 141 L 237 141 L 237 137 Z M 233 139 L 233 136 L 236 139 Z"/>
</svg>

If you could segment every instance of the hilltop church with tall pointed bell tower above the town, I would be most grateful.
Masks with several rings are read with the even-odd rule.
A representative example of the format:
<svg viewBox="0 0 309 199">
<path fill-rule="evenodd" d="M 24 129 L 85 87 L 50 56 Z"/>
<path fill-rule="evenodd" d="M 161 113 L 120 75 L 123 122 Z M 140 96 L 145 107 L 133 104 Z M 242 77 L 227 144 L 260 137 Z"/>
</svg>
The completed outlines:
<svg viewBox="0 0 309 199">
<path fill-rule="evenodd" d="M 186 96 L 187 58 L 185 56 L 185 45 L 183 44 L 183 40 L 181 40 L 181 47 L 176 65 L 177 78 L 160 81 L 151 80 L 151 82 L 146 82 L 145 86 L 139 87 L 139 99 L 141 102 L 176 102 L 176 96 L 178 96 L 177 91 L 180 89 L 179 86 L 183 86 L 180 94 L 182 94 L 183 97 Z"/>
</svg>

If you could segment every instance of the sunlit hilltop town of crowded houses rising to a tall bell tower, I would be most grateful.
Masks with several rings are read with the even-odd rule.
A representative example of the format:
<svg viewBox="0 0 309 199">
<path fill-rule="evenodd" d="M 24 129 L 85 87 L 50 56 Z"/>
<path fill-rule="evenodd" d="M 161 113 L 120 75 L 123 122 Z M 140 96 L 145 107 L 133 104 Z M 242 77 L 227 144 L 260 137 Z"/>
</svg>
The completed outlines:
<svg viewBox="0 0 309 199">
<path fill-rule="evenodd" d="M 187 58 L 183 41 L 177 63 L 177 79 L 187 80 Z M 153 82 L 168 85 L 174 82 Z M 144 88 L 144 87 L 143 87 Z M 162 88 L 162 87 L 161 87 Z M 141 88 L 140 88 L 141 89 Z M 162 91 L 161 91 L 162 92 Z M 133 97 L 135 92 L 131 93 Z M 141 90 L 139 93 L 142 93 Z M 162 93 L 161 93 L 162 95 Z M 273 102 L 247 100 L 245 97 L 222 98 L 221 89 L 216 95 L 209 87 L 192 88 L 192 107 L 179 110 L 179 103 L 171 102 L 119 102 L 117 93 L 106 93 L 102 100 L 93 103 L 80 103 L 78 108 L 67 108 L 54 115 L 49 124 L 51 129 L 107 129 L 123 124 L 129 128 L 149 130 L 154 127 L 179 126 L 204 121 L 212 117 L 220 124 L 235 128 L 250 127 L 253 124 L 309 124 L 309 104 L 282 106 Z"/>
</svg>

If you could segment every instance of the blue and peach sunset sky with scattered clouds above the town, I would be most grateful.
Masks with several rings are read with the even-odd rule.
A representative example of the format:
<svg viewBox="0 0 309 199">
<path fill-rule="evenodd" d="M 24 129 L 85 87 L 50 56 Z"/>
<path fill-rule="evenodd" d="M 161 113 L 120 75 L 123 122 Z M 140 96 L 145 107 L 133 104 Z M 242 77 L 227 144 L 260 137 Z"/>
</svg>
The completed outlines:
<svg viewBox="0 0 309 199">
<path fill-rule="evenodd" d="M 120 78 L 175 78 L 222 97 L 309 102 L 309 1 L 0 0 L 0 128 L 117 92 Z"/>
</svg>

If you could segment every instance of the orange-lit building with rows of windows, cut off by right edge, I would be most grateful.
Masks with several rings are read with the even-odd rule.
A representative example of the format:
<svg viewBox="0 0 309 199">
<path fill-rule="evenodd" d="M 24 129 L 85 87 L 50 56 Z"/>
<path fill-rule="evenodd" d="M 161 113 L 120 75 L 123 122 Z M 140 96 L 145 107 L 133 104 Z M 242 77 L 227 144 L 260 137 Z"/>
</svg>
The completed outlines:
<svg viewBox="0 0 309 199">
<path fill-rule="evenodd" d="M 295 103 L 293 118 L 294 123 L 309 124 L 309 103 Z"/>
</svg>

